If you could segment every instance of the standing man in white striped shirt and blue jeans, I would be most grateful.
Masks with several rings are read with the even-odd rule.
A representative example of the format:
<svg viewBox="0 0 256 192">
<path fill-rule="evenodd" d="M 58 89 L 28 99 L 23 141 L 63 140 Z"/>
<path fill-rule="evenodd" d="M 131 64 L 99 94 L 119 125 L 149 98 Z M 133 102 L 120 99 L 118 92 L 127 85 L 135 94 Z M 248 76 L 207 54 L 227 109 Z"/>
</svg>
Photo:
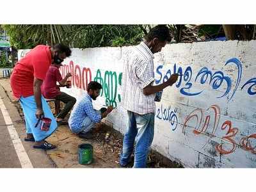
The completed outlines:
<svg viewBox="0 0 256 192">
<path fill-rule="evenodd" d="M 128 127 L 124 135 L 120 166 L 127 166 L 134 149 L 134 168 L 147 166 L 148 150 L 154 138 L 154 116 L 157 92 L 163 91 L 177 81 L 177 74 L 172 74 L 163 84 L 153 86 L 153 54 L 170 41 L 170 31 L 165 25 L 152 28 L 144 42 L 127 51 L 124 59 L 122 76 L 122 106 L 127 109 Z"/>
</svg>

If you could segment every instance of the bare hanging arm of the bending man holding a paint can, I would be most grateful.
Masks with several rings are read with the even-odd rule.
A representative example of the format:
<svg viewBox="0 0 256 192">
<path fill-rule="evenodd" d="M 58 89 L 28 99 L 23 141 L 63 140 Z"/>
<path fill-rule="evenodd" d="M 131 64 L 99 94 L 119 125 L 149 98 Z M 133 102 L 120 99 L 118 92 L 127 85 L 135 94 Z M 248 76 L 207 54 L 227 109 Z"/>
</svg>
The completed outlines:
<svg viewBox="0 0 256 192">
<path fill-rule="evenodd" d="M 42 115 L 44 115 L 44 111 L 42 108 L 42 101 L 41 101 L 41 85 L 43 81 L 41 79 L 37 79 L 35 77 L 34 83 L 33 83 L 33 91 L 36 101 L 36 118 L 42 118 Z"/>
</svg>

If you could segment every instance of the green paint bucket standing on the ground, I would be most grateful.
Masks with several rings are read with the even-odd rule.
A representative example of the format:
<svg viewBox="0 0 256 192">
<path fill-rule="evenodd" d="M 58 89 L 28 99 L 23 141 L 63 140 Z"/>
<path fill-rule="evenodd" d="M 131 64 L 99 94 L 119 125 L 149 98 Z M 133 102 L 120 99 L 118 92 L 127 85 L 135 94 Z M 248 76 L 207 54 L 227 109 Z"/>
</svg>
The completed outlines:
<svg viewBox="0 0 256 192">
<path fill-rule="evenodd" d="M 78 161 L 80 164 L 93 162 L 93 146 L 88 143 L 78 145 Z"/>
</svg>

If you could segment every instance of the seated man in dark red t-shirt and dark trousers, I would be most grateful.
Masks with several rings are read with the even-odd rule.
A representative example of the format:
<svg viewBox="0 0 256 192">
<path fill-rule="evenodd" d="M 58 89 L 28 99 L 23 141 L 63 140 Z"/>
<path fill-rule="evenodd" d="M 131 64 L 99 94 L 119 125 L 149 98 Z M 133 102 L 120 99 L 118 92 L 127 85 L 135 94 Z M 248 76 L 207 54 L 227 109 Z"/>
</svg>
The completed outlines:
<svg viewBox="0 0 256 192">
<path fill-rule="evenodd" d="M 67 93 L 60 92 L 60 86 L 67 86 L 66 82 L 68 77 L 71 77 L 72 75 L 68 72 L 67 75 L 62 79 L 60 74 L 60 68 L 61 65 L 52 64 L 49 70 L 47 71 L 45 81 L 41 86 L 42 94 L 47 99 L 57 99 L 61 100 L 65 103 L 65 107 L 60 113 L 56 116 L 56 121 L 58 124 L 67 124 L 67 122 L 64 122 L 63 119 L 68 114 L 70 109 L 76 104 L 76 98 L 68 95 Z M 56 83 L 59 83 L 60 85 L 57 85 Z"/>
</svg>

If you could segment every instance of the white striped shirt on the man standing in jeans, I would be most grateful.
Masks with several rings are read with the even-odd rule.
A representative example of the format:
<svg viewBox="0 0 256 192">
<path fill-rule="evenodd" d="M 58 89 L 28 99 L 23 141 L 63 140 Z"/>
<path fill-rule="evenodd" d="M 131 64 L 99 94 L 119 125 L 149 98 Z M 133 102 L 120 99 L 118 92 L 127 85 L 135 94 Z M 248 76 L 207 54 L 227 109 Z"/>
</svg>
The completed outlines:
<svg viewBox="0 0 256 192">
<path fill-rule="evenodd" d="M 122 106 L 140 115 L 155 113 L 156 94 L 144 95 L 143 88 L 154 82 L 154 56 L 144 42 L 126 52 L 122 76 Z"/>
</svg>

